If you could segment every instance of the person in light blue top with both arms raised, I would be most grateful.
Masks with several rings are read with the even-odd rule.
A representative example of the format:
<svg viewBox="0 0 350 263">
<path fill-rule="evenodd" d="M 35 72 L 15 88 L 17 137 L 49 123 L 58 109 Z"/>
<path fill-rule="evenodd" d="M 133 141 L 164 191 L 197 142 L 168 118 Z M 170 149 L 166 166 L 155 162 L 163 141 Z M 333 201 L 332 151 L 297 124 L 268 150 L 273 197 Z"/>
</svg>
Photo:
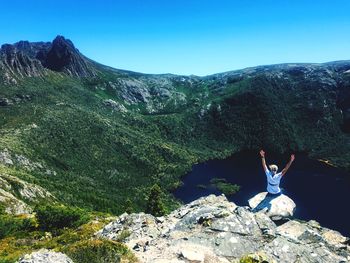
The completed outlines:
<svg viewBox="0 0 350 263">
<path fill-rule="evenodd" d="M 264 168 L 266 178 L 267 178 L 267 192 L 268 195 L 270 196 L 277 196 L 281 194 L 281 189 L 280 189 L 280 182 L 282 176 L 286 174 L 288 171 L 289 167 L 291 166 L 292 162 L 295 159 L 294 154 L 290 156 L 290 160 L 287 163 L 286 167 L 279 173 L 278 167 L 275 164 L 269 165 L 270 170 L 267 168 L 266 161 L 265 161 L 265 152 L 263 150 L 260 151 L 260 156 L 261 156 L 261 161 L 262 161 L 262 166 Z"/>
</svg>

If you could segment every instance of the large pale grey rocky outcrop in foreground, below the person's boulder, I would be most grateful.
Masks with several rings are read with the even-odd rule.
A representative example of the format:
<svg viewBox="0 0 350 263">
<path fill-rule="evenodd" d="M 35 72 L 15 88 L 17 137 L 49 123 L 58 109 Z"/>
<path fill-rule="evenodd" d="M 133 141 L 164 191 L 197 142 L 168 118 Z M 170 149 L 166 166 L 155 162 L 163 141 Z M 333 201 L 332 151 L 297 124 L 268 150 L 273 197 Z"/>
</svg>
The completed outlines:
<svg viewBox="0 0 350 263">
<path fill-rule="evenodd" d="M 120 240 L 141 262 L 347 262 L 348 239 L 314 221 L 277 226 L 264 212 L 210 195 L 165 217 L 123 214 L 96 233 Z M 125 238 L 125 236 L 127 236 Z"/>
</svg>

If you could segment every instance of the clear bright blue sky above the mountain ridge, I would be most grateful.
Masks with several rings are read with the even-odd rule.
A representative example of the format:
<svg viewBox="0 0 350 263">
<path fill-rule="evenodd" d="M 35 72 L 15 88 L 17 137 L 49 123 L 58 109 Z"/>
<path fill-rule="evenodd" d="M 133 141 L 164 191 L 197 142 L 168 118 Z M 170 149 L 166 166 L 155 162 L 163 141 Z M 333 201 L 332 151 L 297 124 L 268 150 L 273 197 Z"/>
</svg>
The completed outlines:
<svg viewBox="0 0 350 263">
<path fill-rule="evenodd" d="M 349 0 L 12 0 L 0 7 L 0 43 L 60 34 L 102 64 L 145 73 L 350 59 Z"/>
</svg>

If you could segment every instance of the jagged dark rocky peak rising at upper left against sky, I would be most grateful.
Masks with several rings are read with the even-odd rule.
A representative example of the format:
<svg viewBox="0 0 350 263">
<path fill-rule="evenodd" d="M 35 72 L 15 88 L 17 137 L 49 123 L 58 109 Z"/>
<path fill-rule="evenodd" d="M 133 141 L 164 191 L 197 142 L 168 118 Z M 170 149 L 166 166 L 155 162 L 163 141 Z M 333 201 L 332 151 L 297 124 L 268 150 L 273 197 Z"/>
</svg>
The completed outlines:
<svg viewBox="0 0 350 263">
<path fill-rule="evenodd" d="M 20 41 L 0 49 L 0 73 L 6 84 L 19 78 L 45 76 L 47 69 L 74 77 L 95 77 L 93 63 L 69 39 L 57 36 L 50 42 Z"/>
</svg>

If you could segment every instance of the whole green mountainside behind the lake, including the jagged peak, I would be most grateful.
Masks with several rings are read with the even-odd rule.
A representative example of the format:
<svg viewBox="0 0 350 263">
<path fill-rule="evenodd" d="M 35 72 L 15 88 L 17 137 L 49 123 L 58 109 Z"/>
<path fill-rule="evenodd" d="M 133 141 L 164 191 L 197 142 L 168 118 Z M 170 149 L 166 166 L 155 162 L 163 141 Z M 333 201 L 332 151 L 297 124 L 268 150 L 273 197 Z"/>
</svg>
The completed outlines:
<svg viewBox="0 0 350 263">
<path fill-rule="evenodd" d="M 45 170 L 0 173 L 59 201 L 121 213 L 170 192 L 191 165 L 261 147 L 306 152 L 350 169 L 350 61 L 260 66 L 206 77 L 113 69 L 70 40 L 0 50 L 0 152 Z"/>
</svg>

